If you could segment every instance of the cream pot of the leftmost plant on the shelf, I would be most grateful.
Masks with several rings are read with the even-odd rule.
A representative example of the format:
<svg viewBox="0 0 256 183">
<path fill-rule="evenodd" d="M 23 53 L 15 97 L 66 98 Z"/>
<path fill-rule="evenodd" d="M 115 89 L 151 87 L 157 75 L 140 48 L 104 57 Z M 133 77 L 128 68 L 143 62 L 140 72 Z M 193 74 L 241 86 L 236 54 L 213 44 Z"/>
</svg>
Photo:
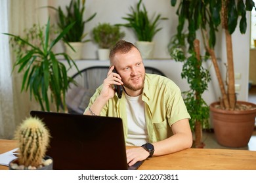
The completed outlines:
<svg viewBox="0 0 256 183">
<path fill-rule="evenodd" d="M 65 46 L 65 52 L 68 54 L 72 59 L 82 59 L 82 53 L 83 53 L 83 42 L 69 42 L 69 44 L 74 48 L 70 48 L 68 44 L 64 44 Z"/>
</svg>

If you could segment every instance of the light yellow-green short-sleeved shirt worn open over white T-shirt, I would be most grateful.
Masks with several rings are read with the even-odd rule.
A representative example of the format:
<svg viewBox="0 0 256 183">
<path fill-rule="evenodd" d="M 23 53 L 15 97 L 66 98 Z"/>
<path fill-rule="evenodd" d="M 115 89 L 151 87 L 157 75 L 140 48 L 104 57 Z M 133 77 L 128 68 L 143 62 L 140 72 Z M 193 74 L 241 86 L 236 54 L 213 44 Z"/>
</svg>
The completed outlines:
<svg viewBox="0 0 256 183">
<path fill-rule="evenodd" d="M 102 86 L 97 88 L 95 94 L 90 99 L 89 107 L 96 97 L 100 95 L 101 90 Z M 173 134 L 171 125 L 175 122 L 185 118 L 190 119 L 181 96 L 181 90 L 169 78 L 146 74 L 142 101 L 144 101 L 145 105 L 148 139 L 151 143 L 170 137 Z M 118 99 L 117 95 L 110 99 L 102 108 L 100 116 L 121 118 L 123 120 L 125 139 L 127 139 L 128 127 L 125 95 L 122 95 L 121 99 Z"/>
</svg>

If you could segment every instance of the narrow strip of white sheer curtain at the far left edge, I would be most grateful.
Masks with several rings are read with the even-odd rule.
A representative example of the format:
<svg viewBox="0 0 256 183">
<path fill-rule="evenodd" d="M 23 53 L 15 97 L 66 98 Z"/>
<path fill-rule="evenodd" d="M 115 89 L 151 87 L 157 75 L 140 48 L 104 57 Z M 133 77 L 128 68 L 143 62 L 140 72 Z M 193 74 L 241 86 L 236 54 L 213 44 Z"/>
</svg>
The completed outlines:
<svg viewBox="0 0 256 183">
<path fill-rule="evenodd" d="M 9 138 L 15 127 L 14 115 L 12 115 L 13 90 L 11 78 L 11 58 L 9 39 L 2 33 L 9 32 L 8 14 L 9 1 L 1 0 L 0 6 L 0 138 Z"/>
</svg>

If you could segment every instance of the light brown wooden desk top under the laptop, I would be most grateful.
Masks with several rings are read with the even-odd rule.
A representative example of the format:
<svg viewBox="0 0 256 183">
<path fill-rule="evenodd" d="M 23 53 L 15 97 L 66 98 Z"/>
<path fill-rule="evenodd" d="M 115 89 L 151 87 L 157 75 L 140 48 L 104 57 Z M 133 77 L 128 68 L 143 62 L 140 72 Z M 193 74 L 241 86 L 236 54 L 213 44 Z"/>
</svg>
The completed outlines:
<svg viewBox="0 0 256 183">
<path fill-rule="evenodd" d="M 16 148 L 16 142 L 0 140 L 0 154 Z M 9 169 L 0 165 L 0 170 Z M 140 170 L 256 170 L 256 151 L 190 148 L 173 154 L 148 158 Z"/>
</svg>

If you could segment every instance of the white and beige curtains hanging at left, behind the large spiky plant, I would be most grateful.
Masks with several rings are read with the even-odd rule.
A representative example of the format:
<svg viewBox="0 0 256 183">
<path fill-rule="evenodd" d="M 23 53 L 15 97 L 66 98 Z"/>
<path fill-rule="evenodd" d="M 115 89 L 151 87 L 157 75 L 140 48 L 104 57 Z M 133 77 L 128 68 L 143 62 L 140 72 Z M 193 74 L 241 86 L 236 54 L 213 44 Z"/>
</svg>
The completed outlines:
<svg viewBox="0 0 256 183">
<path fill-rule="evenodd" d="M 30 101 L 28 93 L 20 93 L 22 74 L 12 73 L 14 56 L 9 37 L 3 33 L 22 35 L 26 27 L 45 24 L 47 0 L 0 0 L 0 138 L 12 139 L 16 126 L 39 105 Z"/>
</svg>

